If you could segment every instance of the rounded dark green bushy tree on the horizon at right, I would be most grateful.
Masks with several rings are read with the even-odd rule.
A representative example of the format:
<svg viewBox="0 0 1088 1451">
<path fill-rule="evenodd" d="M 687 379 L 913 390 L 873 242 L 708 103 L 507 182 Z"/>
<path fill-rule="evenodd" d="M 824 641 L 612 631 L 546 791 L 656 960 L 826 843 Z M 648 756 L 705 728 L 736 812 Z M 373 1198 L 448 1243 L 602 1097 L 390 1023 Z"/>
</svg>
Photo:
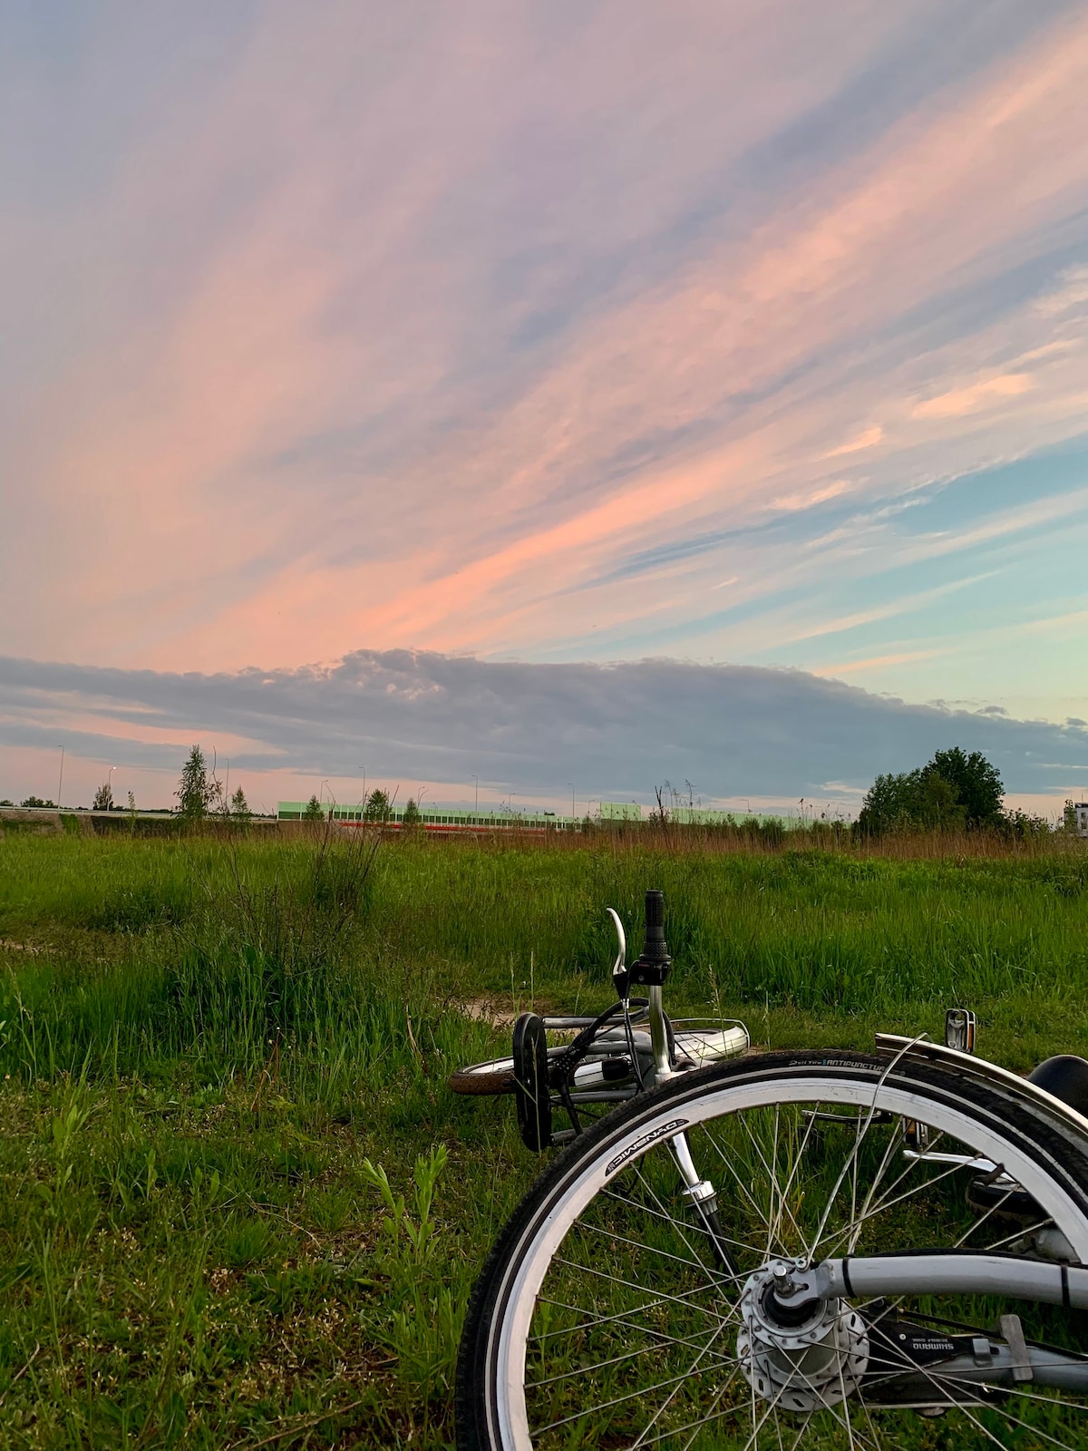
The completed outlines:
<svg viewBox="0 0 1088 1451">
<path fill-rule="evenodd" d="M 857 827 L 865 836 L 897 829 L 978 830 L 1007 824 L 1001 810 L 1001 773 L 982 752 L 959 746 L 939 750 L 917 770 L 878 776 L 869 788 Z"/>
</svg>

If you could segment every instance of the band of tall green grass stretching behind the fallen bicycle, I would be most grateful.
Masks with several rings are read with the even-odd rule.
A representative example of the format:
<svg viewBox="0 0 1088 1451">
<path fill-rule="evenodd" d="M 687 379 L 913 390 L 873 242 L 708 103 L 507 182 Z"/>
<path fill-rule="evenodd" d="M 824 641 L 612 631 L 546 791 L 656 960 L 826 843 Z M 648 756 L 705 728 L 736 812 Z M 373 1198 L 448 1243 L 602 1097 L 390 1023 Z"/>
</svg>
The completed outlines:
<svg viewBox="0 0 1088 1451">
<path fill-rule="evenodd" d="M 1079 843 L 1078 843 L 1079 844 Z M 622 836 L 572 850 L 364 837 L 3 843 L 0 936 L 41 937 L 0 979 L 0 1064 L 136 1069 L 263 1058 L 345 1029 L 408 974 L 453 998 L 599 1001 L 614 905 L 637 939 L 660 887 L 675 1001 L 837 1013 L 1088 981 L 1088 853 L 897 859 L 682 853 Z M 421 978 L 422 974 L 422 978 Z"/>
</svg>

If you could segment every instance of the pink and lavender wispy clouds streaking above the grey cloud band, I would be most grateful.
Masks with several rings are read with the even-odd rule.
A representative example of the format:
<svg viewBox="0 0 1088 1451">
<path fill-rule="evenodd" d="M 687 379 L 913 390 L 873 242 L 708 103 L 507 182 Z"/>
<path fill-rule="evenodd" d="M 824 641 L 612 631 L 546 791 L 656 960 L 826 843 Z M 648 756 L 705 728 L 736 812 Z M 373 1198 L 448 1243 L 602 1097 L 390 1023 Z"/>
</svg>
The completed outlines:
<svg viewBox="0 0 1088 1451">
<path fill-rule="evenodd" d="M 49 35 L 0 58 L 12 653 L 766 662 L 1081 506 L 1047 473 L 1088 403 L 1076 6 Z M 892 522 L 1030 457 L 1015 501 Z"/>
</svg>

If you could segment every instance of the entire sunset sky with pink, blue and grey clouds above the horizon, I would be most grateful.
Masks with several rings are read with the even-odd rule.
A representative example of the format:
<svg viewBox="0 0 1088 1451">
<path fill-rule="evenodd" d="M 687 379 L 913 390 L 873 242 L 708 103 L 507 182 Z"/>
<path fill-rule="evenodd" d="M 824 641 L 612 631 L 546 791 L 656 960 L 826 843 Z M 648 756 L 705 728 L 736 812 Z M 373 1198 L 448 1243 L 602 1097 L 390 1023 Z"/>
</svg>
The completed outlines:
<svg viewBox="0 0 1088 1451">
<path fill-rule="evenodd" d="M 1050 0 L 13 0 L 0 795 L 1079 795 L 1085 96 Z"/>
</svg>

